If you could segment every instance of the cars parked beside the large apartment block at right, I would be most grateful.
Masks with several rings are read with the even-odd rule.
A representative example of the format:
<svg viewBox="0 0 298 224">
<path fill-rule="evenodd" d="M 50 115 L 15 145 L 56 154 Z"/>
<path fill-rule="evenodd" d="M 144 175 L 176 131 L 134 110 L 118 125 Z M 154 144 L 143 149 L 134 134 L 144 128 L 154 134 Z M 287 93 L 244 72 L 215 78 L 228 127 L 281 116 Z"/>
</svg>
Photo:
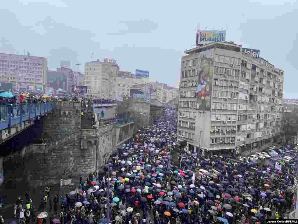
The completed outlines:
<svg viewBox="0 0 298 224">
<path fill-rule="evenodd" d="M 298 143 L 294 145 L 293 150 L 287 150 L 282 148 L 283 147 L 280 147 L 278 149 L 276 146 L 271 145 L 268 149 L 262 152 L 256 152 L 254 155 L 251 155 L 249 159 L 254 161 L 263 161 L 265 159 L 270 159 L 273 162 L 281 162 L 283 157 L 283 161 L 285 163 L 294 163 L 294 158 L 296 158 L 296 155 L 298 154 Z M 246 162 L 246 157 L 240 158 L 240 161 Z"/>
</svg>

